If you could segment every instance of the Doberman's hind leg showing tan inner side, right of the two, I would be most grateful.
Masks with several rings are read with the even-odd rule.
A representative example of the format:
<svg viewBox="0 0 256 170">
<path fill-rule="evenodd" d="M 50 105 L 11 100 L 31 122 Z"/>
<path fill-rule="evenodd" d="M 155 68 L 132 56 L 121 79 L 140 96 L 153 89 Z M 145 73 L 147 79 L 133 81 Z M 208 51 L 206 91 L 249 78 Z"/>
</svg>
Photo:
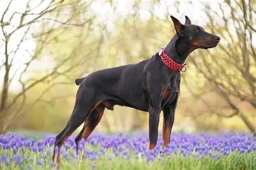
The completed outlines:
<svg viewBox="0 0 256 170">
<path fill-rule="evenodd" d="M 81 138 L 86 140 L 91 135 L 91 133 L 96 128 L 96 126 L 99 124 L 99 122 L 100 122 L 100 120 L 103 116 L 104 109 L 105 109 L 105 105 L 100 103 L 98 106 L 95 107 L 94 110 L 92 110 L 91 114 L 89 115 L 89 117 L 84 122 L 82 130 L 79 132 L 79 134 L 75 138 L 77 154 L 78 154 L 78 143 L 79 143 L 79 141 L 81 140 Z M 83 153 L 81 152 L 80 155 L 82 156 Z"/>
</svg>

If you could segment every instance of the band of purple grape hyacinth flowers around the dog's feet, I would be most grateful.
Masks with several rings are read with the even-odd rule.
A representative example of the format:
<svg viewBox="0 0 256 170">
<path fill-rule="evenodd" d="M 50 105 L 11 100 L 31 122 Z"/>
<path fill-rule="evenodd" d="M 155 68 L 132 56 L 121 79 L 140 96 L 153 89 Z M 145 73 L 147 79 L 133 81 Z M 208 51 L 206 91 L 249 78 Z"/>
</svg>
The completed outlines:
<svg viewBox="0 0 256 170">
<path fill-rule="evenodd" d="M 156 148 L 148 150 L 149 139 L 147 134 L 137 136 L 105 135 L 93 133 L 87 141 L 83 139 L 78 144 L 78 152 L 83 151 L 83 160 L 79 160 L 76 153 L 75 135 L 66 140 L 60 149 L 61 162 L 79 164 L 79 161 L 91 162 L 91 169 L 98 168 L 97 162 L 104 161 L 143 161 L 163 162 L 180 160 L 188 157 L 201 161 L 204 157 L 220 160 L 232 154 L 256 154 L 256 137 L 248 134 L 187 134 L 172 135 L 168 147 L 162 148 L 163 141 L 159 135 Z M 0 135 L 0 168 L 36 169 L 41 166 L 45 169 L 58 167 L 52 162 L 55 136 L 48 136 L 43 140 L 26 140 L 24 136 Z M 55 148 L 57 151 L 58 148 Z M 100 168 L 100 167 L 99 167 Z M 111 169 L 111 168 L 110 168 Z"/>
</svg>

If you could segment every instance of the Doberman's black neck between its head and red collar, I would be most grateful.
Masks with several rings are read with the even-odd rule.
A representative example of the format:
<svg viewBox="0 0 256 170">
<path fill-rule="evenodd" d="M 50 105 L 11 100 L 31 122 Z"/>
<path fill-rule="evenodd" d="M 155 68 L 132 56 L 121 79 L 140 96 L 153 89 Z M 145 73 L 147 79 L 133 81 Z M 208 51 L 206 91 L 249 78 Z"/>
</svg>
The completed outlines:
<svg viewBox="0 0 256 170">
<path fill-rule="evenodd" d="M 178 64 L 183 64 L 187 56 L 191 53 L 190 46 L 187 45 L 176 34 L 164 48 L 164 52 Z"/>
</svg>

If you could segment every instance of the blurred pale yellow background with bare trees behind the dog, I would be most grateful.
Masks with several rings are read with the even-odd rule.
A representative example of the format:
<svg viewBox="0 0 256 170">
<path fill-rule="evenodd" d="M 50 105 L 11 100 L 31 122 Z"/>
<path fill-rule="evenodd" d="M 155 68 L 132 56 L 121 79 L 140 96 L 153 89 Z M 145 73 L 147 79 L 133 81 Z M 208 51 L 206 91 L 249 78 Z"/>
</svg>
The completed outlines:
<svg viewBox="0 0 256 170">
<path fill-rule="evenodd" d="M 256 1 L 251 0 L 1 0 L 0 134 L 60 132 L 74 106 L 74 80 L 150 58 L 175 34 L 170 15 L 182 23 L 187 15 L 221 37 L 216 48 L 187 58 L 173 132 L 255 134 Z M 148 130 L 148 113 L 115 106 L 95 131 L 138 130 Z"/>
</svg>

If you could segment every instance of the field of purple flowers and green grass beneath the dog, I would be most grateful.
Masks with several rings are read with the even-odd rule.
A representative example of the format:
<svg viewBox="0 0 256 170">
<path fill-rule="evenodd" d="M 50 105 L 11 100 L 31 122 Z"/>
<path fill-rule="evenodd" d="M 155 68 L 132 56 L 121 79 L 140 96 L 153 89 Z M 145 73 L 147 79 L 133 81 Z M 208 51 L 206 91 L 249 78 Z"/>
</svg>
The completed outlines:
<svg viewBox="0 0 256 170">
<path fill-rule="evenodd" d="M 35 141 L 0 135 L 0 169 L 256 169 L 256 138 L 248 134 L 174 134 L 165 149 L 159 136 L 152 151 L 147 135 L 93 133 L 79 143 L 83 159 L 71 136 L 61 148 L 59 165 L 51 160 L 54 136 Z"/>
</svg>

